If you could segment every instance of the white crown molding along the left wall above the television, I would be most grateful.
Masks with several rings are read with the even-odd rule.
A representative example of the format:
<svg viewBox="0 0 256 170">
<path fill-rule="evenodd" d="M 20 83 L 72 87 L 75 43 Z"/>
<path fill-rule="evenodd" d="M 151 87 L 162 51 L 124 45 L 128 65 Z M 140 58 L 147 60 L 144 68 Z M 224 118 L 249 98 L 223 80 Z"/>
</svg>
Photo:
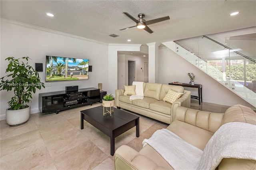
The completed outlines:
<svg viewBox="0 0 256 170">
<path fill-rule="evenodd" d="M 48 28 L 43 28 L 43 27 L 39 27 L 39 26 L 33 26 L 33 25 L 26 24 L 26 23 L 23 23 L 23 22 L 17 22 L 17 21 L 14 21 L 14 20 L 8 20 L 6 18 L 1 18 L 0 20 L 1 20 L 1 22 L 5 22 L 5 23 L 8 23 L 8 24 L 14 24 L 14 25 L 17 25 L 17 26 L 22 26 L 22 27 L 26 27 L 26 28 L 35 29 L 35 30 L 50 32 L 50 33 L 54 33 L 54 34 L 59 34 L 59 35 L 67 36 L 67 37 L 71 37 L 71 38 L 77 38 L 77 39 L 85 40 L 85 41 L 88 41 L 88 42 L 94 42 L 94 43 L 100 43 L 100 44 L 108 45 L 108 43 L 105 43 L 105 42 L 100 42 L 100 41 L 92 40 L 92 39 L 89 39 L 89 38 L 75 36 L 75 35 L 72 35 L 72 34 L 68 34 L 68 33 L 64 33 L 64 32 L 59 32 L 59 31 L 48 29 Z"/>
</svg>

